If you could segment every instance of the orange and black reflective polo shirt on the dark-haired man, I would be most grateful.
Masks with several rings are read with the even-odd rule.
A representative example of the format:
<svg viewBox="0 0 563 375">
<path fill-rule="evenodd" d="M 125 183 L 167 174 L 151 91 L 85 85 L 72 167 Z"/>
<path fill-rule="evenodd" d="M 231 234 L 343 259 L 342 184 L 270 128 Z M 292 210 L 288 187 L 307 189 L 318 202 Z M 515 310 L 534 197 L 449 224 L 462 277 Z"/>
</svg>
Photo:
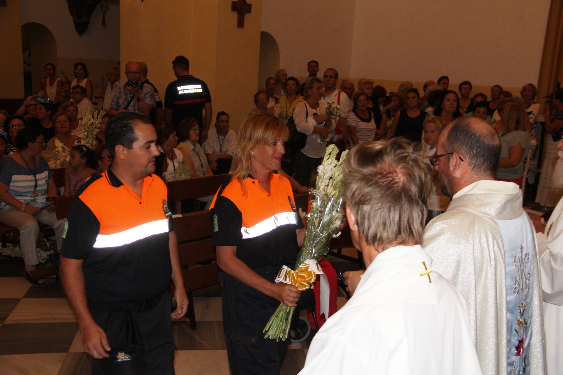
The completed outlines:
<svg viewBox="0 0 563 375">
<path fill-rule="evenodd" d="M 142 301 L 166 290 L 172 274 L 166 199 L 156 175 L 145 177 L 140 198 L 111 168 L 79 189 L 61 254 L 84 260 L 88 299 Z"/>
</svg>

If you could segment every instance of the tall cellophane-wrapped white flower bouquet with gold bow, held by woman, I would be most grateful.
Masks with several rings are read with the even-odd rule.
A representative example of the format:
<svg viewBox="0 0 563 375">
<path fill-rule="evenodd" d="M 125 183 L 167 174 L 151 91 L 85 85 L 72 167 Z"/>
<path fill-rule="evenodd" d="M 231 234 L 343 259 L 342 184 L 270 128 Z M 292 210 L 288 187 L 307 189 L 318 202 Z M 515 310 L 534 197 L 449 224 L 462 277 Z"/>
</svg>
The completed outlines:
<svg viewBox="0 0 563 375">
<path fill-rule="evenodd" d="M 342 152 L 340 160 L 337 161 L 338 152 L 338 147 L 333 144 L 328 146 L 323 162 L 317 169 L 319 175 L 316 186 L 310 192 L 311 202 L 307 232 L 301 251 L 297 255 L 293 268 L 294 274 L 300 273 L 300 267 L 303 268 L 306 260 L 319 261 L 321 256 L 327 254 L 330 238 L 344 218 L 342 162 L 348 151 Z M 303 280 L 296 278 L 295 280 L 292 278 L 291 283 L 297 286 L 301 282 L 301 285 L 298 286 L 300 290 L 304 291 L 314 287 L 312 282 L 303 283 Z M 315 277 L 312 279 L 314 281 Z M 303 284 L 307 284 L 307 286 L 303 286 Z M 276 341 L 285 340 L 289 333 L 294 310 L 294 307 L 287 306 L 283 302 L 280 303 L 263 330 L 266 333 L 265 337 Z"/>
</svg>

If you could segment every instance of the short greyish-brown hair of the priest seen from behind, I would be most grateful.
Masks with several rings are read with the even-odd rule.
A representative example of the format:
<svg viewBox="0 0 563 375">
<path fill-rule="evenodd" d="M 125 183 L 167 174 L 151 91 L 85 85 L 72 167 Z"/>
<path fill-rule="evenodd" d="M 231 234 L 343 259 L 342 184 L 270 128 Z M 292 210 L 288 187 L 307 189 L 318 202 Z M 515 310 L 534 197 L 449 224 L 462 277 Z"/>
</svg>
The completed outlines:
<svg viewBox="0 0 563 375">
<path fill-rule="evenodd" d="M 363 142 L 343 166 L 342 191 L 358 234 L 379 250 L 422 243 L 432 168 L 409 141 Z"/>
</svg>

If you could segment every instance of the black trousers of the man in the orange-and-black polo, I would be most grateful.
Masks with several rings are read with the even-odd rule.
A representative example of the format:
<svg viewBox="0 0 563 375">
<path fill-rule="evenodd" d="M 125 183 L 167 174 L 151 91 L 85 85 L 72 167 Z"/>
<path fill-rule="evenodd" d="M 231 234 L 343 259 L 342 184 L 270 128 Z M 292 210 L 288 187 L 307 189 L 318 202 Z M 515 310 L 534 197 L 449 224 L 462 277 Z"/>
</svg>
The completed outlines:
<svg viewBox="0 0 563 375">
<path fill-rule="evenodd" d="M 143 345 L 145 346 L 145 369 L 142 375 L 174 375 L 174 350 L 171 329 L 171 296 L 165 292 L 153 308 L 142 313 L 133 311 Z M 101 329 L 106 327 L 109 311 L 90 308 L 94 322 Z M 106 332 L 108 335 L 109 332 Z M 111 342 L 109 343 L 111 345 Z M 100 360 L 92 358 L 92 375 L 103 375 Z"/>
</svg>

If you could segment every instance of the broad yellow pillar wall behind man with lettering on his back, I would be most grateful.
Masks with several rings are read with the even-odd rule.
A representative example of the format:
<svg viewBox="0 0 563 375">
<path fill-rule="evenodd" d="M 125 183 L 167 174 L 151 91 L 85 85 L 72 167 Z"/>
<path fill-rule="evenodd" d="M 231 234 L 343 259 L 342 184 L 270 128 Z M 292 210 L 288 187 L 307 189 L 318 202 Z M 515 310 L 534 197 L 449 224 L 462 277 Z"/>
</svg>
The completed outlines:
<svg viewBox="0 0 563 375">
<path fill-rule="evenodd" d="M 167 85 L 176 79 L 172 60 L 184 55 L 190 60 L 190 74 L 209 87 L 213 114 L 226 111 L 231 128 L 237 130 L 253 107 L 261 12 L 261 1 L 254 0 L 252 13 L 245 16 L 244 28 L 239 29 L 229 0 L 121 2 L 122 82 L 128 61 L 144 61 L 148 78 L 164 100 Z M 142 38 L 138 25 L 143 25 Z"/>
</svg>

